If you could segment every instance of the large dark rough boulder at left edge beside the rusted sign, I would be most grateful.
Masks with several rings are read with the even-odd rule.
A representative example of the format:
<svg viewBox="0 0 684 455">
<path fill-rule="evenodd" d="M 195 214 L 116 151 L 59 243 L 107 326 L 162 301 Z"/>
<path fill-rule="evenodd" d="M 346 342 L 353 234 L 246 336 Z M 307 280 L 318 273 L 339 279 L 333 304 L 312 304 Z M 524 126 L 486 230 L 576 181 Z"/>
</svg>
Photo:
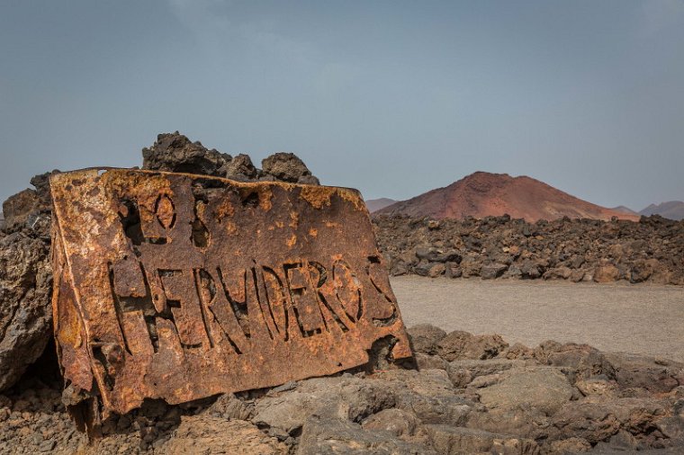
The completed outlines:
<svg viewBox="0 0 684 455">
<path fill-rule="evenodd" d="M 14 385 L 52 333 L 49 245 L 15 232 L 0 238 L 0 390 Z"/>
</svg>

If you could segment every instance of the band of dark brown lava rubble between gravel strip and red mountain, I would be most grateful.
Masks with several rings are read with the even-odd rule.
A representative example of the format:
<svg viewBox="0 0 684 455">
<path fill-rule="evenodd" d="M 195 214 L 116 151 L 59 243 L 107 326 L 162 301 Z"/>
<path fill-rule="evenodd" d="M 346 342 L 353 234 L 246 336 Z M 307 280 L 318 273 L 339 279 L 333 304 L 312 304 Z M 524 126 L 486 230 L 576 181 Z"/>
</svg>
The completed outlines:
<svg viewBox="0 0 684 455">
<path fill-rule="evenodd" d="M 392 275 L 684 284 L 684 221 L 373 220 Z"/>
</svg>

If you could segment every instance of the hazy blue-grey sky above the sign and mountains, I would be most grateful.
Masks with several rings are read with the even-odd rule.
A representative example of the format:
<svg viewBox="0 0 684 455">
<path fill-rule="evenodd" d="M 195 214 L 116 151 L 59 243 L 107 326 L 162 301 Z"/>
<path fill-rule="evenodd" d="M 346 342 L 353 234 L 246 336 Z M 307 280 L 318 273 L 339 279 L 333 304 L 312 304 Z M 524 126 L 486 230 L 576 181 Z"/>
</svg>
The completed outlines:
<svg viewBox="0 0 684 455">
<path fill-rule="evenodd" d="M 0 198 L 158 132 L 407 199 L 477 170 L 684 200 L 684 0 L 0 3 Z"/>
</svg>

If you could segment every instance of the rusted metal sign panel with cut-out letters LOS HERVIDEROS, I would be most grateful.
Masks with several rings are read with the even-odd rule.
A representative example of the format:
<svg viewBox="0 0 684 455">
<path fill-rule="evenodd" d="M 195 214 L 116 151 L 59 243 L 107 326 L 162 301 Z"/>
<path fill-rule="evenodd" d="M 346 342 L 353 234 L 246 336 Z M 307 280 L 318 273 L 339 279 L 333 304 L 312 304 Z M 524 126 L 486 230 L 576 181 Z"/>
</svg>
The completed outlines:
<svg viewBox="0 0 684 455">
<path fill-rule="evenodd" d="M 89 169 L 50 178 L 66 379 L 105 410 L 410 356 L 358 192 Z"/>
</svg>

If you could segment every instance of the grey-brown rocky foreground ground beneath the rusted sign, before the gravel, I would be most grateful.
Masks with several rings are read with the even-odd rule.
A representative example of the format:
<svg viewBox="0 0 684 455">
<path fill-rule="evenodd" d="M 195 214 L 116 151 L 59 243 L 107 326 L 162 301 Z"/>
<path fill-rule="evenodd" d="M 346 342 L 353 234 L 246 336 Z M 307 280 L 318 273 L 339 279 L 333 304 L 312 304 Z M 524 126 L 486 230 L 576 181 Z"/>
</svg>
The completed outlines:
<svg viewBox="0 0 684 455">
<path fill-rule="evenodd" d="M 183 406 L 149 401 L 88 443 L 49 359 L 0 396 L 2 453 L 544 454 L 684 451 L 684 364 L 414 326 L 416 364 Z M 52 366 L 54 368 L 54 365 Z"/>
</svg>

